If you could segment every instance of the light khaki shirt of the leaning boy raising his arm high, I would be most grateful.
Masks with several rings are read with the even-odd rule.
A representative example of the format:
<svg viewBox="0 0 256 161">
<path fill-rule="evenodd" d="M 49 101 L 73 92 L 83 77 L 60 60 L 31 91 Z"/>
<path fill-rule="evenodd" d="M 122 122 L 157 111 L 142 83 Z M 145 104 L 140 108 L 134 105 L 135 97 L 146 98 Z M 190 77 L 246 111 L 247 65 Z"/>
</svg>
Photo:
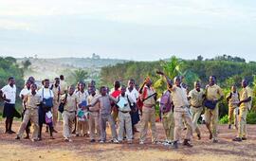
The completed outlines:
<svg viewBox="0 0 256 161">
<path fill-rule="evenodd" d="M 187 98 L 186 90 L 183 87 L 178 87 L 173 85 L 169 90 L 172 91 L 171 95 L 173 97 L 174 107 L 189 106 L 189 101 Z"/>
</svg>

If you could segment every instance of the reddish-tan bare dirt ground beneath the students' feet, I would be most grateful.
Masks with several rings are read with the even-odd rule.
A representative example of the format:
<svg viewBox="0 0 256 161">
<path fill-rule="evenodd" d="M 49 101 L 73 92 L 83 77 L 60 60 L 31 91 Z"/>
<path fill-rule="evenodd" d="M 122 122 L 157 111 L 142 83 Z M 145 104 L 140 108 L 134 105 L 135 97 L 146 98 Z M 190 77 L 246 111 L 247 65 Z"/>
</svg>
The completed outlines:
<svg viewBox="0 0 256 161">
<path fill-rule="evenodd" d="M 15 122 L 13 130 L 18 131 L 20 122 Z M 59 122 L 56 139 L 50 140 L 49 134 L 43 135 L 43 141 L 15 140 L 16 134 L 4 134 L 4 122 L 0 122 L 0 160 L 256 160 L 256 125 L 248 125 L 248 140 L 232 142 L 235 130 L 228 130 L 227 125 L 219 126 L 219 143 L 213 144 L 205 125 L 200 127 L 202 139 L 194 136 L 193 147 L 182 145 L 178 150 L 163 145 L 152 145 L 150 134 L 144 145 L 138 144 L 138 134 L 133 144 L 90 143 L 89 137 L 75 137 L 73 142 L 64 142 L 62 123 Z M 159 139 L 164 139 L 162 125 L 157 123 Z M 109 136 L 108 131 L 108 136 Z"/>
</svg>

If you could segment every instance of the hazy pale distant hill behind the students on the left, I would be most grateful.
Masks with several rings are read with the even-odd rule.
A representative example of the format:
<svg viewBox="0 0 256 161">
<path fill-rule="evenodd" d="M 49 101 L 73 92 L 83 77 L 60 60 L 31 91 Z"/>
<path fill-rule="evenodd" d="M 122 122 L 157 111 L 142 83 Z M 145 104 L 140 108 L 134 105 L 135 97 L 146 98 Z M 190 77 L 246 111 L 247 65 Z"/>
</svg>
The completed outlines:
<svg viewBox="0 0 256 161">
<path fill-rule="evenodd" d="M 60 74 L 68 76 L 73 70 L 78 68 L 86 69 L 90 79 L 96 79 L 100 75 L 101 67 L 128 62 L 127 60 L 101 59 L 99 56 L 93 55 L 92 58 L 41 59 L 30 57 L 17 59 L 17 63 L 22 65 L 27 60 L 29 60 L 31 65 L 25 71 L 25 79 L 29 76 L 34 76 L 36 80 L 54 79 Z"/>
</svg>

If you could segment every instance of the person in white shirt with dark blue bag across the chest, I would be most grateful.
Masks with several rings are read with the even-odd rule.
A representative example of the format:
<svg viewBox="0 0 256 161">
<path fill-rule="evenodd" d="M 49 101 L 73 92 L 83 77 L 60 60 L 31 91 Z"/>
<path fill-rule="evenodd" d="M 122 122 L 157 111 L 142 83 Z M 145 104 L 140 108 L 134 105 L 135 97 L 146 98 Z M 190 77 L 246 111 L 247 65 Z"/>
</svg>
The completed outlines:
<svg viewBox="0 0 256 161">
<path fill-rule="evenodd" d="M 49 80 L 44 80 L 44 87 L 38 91 L 38 95 L 41 98 L 41 105 L 38 110 L 39 114 L 39 140 L 42 140 L 42 128 L 45 123 L 49 127 L 50 138 L 53 137 L 53 123 L 52 123 L 52 113 L 51 108 L 53 107 L 53 97 L 54 94 L 52 90 L 49 89 Z"/>
</svg>

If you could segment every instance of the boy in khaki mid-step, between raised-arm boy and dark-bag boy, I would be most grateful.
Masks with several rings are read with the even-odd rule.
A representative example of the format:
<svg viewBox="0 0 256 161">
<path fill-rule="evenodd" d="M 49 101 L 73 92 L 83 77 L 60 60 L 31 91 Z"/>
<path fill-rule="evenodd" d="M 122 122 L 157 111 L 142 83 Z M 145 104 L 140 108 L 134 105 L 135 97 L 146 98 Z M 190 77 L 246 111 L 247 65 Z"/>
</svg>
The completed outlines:
<svg viewBox="0 0 256 161">
<path fill-rule="evenodd" d="M 205 92 L 201 88 L 201 83 L 195 81 L 193 83 L 194 89 L 189 93 L 189 99 L 191 101 L 191 110 L 192 110 L 192 125 L 193 131 L 197 134 L 198 139 L 201 139 L 201 133 L 198 127 L 198 119 L 203 112 L 203 101 L 205 98 Z"/>
</svg>

